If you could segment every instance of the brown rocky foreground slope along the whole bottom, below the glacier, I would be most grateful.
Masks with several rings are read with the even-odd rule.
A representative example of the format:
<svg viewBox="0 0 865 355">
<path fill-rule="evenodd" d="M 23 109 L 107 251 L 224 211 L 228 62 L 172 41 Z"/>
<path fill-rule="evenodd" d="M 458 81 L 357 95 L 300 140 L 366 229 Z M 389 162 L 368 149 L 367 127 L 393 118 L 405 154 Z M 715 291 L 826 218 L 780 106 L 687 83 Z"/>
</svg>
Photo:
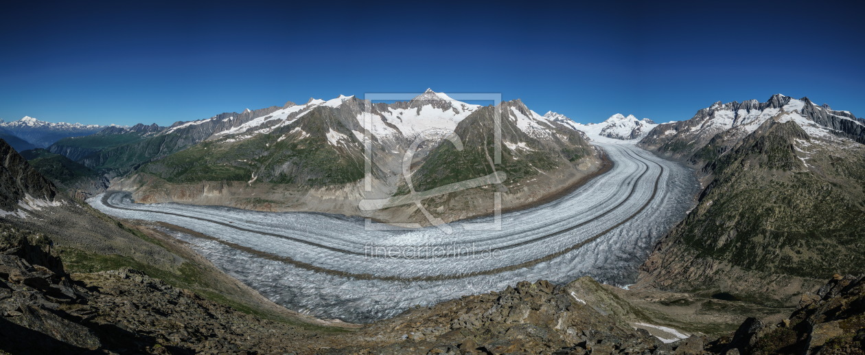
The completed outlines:
<svg viewBox="0 0 865 355">
<path fill-rule="evenodd" d="M 47 236 L 0 231 L 0 350 L 10 353 L 862 353 L 865 278 L 837 276 L 778 325 L 664 344 L 597 282 L 521 282 L 356 331 L 243 313 L 122 268 L 67 274 Z"/>
</svg>

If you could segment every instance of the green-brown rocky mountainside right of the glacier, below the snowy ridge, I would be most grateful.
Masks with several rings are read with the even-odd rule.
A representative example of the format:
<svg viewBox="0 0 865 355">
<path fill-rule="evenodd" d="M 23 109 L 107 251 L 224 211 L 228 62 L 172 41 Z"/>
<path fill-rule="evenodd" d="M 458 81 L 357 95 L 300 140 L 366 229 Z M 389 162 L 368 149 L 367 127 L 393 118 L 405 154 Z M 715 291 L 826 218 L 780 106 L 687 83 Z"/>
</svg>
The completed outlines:
<svg viewBox="0 0 865 355">
<path fill-rule="evenodd" d="M 644 266 L 657 284 L 767 300 L 784 297 L 761 291 L 783 282 L 779 275 L 860 271 L 865 148 L 772 119 L 727 152 L 715 148 L 722 141 L 712 139 L 691 157 L 713 178 Z M 797 291 L 804 290 L 789 293 Z"/>
</svg>

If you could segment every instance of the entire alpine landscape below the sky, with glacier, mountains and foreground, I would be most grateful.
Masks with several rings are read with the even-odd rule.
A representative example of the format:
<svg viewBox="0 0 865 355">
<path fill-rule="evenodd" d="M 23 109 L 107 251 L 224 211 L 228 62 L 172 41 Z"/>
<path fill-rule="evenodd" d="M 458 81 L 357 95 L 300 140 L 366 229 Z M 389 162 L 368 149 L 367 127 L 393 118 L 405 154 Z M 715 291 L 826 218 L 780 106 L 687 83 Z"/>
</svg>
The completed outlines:
<svg viewBox="0 0 865 355">
<path fill-rule="evenodd" d="M 865 120 L 807 98 L 581 124 L 427 89 L 0 129 L 0 352 L 865 346 Z"/>
</svg>

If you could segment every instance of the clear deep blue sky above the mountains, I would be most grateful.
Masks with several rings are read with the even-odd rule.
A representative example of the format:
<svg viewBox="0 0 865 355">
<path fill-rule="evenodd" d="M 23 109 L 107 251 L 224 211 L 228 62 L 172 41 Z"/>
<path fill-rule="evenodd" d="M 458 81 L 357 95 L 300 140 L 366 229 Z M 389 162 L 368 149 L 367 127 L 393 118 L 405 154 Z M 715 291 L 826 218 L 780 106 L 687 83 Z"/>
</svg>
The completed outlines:
<svg viewBox="0 0 865 355">
<path fill-rule="evenodd" d="M 580 122 L 777 93 L 865 116 L 855 2 L 319 3 L 5 4 L 0 118 L 169 125 L 427 87 Z"/>
</svg>

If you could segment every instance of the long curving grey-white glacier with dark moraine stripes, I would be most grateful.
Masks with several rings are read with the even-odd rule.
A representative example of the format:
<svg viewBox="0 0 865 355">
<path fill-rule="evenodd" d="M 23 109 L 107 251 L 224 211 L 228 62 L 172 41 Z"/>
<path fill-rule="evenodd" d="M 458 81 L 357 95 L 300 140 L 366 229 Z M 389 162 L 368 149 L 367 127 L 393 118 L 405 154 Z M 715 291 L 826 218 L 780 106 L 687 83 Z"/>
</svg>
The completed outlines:
<svg viewBox="0 0 865 355">
<path fill-rule="evenodd" d="M 366 229 L 356 217 L 259 212 L 178 203 L 134 203 L 125 192 L 87 200 L 112 216 L 165 229 L 267 298 L 320 318 L 368 322 L 518 281 L 565 283 L 584 275 L 634 281 L 654 243 L 694 205 L 689 169 L 629 144 L 598 144 L 615 163 L 566 197 L 493 216 L 431 227 Z M 623 223 L 624 221 L 624 223 Z"/>
</svg>

